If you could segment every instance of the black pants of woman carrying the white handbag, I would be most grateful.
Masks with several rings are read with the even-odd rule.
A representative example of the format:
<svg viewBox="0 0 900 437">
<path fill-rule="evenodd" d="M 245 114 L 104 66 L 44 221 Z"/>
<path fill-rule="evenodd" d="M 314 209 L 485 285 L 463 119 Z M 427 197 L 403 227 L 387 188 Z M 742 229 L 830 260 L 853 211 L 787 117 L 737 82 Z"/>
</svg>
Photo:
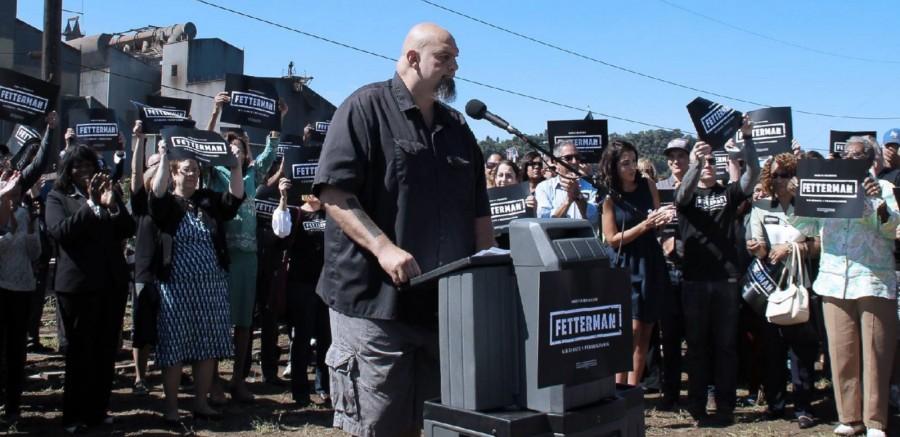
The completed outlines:
<svg viewBox="0 0 900 437">
<path fill-rule="evenodd" d="M 781 412 L 787 403 L 786 364 L 790 359 L 791 384 L 794 387 L 794 415 L 809 414 L 815 383 L 816 358 L 819 355 L 818 334 L 814 322 L 810 320 L 800 325 L 778 326 L 762 321 L 761 326 L 761 341 L 765 353 L 763 389 L 769 411 Z"/>
</svg>

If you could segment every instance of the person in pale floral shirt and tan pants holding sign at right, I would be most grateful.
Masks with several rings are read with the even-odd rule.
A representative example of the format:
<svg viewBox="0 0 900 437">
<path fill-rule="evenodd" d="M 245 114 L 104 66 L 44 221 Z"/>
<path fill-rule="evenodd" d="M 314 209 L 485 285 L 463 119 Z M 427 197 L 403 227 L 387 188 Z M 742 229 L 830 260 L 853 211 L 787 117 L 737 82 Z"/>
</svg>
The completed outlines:
<svg viewBox="0 0 900 437">
<path fill-rule="evenodd" d="M 889 182 L 876 180 L 870 170 L 877 145 L 868 137 L 852 136 L 844 145 L 844 159 L 859 160 L 857 173 L 838 166 L 832 171 L 798 178 L 790 186 L 796 208 L 788 209 L 791 224 L 807 237 L 820 239 L 819 275 L 813 283 L 822 296 L 831 376 L 840 425 L 834 433 L 883 436 L 888 425 L 888 396 L 894 349 L 897 346 L 897 280 L 894 275 L 894 238 L 900 212 Z M 838 163 L 835 163 L 838 164 Z M 844 163 L 849 164 L 849 163 Z M 867 176 L 864 176 L 866 171 Z M 833 178 L 831 176 L 834 176 Z M 860 184 L 857 181 L 865 177 Z M 829 180 L 832 179 L 832 180 Z M 798 190 L 799 188 L 799 190 Z M 856 218 L 823 217 L 824 208 L 810 208 L 803 217 L 802 197 L 840 201 L 850 191 L 865 193 Z M 830 196 L 830 197 L 826 197 Z M 838 217 L 841 208 L 832 208 Z M 863 397 L 865 393 L 865 397 Z"/>
</svg>

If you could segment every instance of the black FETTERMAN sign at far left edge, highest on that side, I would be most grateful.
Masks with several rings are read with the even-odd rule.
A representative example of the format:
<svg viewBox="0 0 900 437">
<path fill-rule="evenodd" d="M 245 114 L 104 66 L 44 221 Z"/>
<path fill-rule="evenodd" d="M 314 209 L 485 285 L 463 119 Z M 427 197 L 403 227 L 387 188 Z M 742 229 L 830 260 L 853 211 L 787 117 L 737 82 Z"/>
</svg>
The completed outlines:
<svg viewBox="0 0 900 437">
<path fill-rule="evenodd" d="M 0 68 L 0 119 L 34 125 L 56 106 L 59 85 Z"/>
</svg>

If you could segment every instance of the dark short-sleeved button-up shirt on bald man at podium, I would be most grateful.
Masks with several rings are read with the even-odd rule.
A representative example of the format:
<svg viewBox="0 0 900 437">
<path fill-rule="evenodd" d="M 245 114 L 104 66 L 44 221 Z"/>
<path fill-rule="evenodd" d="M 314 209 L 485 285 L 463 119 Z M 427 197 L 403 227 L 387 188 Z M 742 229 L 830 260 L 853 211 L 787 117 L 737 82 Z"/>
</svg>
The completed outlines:
<svg viewBox="0 0 900 437">
<path fill-rule="evenodd" d="M 335 112 L 314 193 L 325 185 L 356 195 L 422 272 L 474 254 L 475 219 L 490 216 L 484 156 L 465 118 L 435 103 L 429 129 L 396 74 L 355 91 Z M 317 292 L 334 310 L 356 317 L 430 321 L 437 312 L 436 293 L 398 290 L 375 256 L 330 216 Z"/>
</svg>

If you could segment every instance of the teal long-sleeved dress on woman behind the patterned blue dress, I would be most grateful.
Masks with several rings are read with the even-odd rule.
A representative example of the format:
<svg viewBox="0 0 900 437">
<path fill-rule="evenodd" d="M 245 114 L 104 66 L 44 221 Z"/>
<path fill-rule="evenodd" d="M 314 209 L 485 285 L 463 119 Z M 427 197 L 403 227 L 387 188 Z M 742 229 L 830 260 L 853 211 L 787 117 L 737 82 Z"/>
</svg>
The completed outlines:
<svg viewBox="0 0 900 437">
<path fill-rule="evenodd" d="M 275 160 L 278 139 L 266 137 L 266 148 L 253 160 L 244 173 L 244 202 L 237 216 L 225 222 L 225 240 L 228 242 L 228 294 L 231 304 L 231 322 L 241 328 L 249 328 L 253 322 L 253 305 L 256 302 L 256 211 L 254 197 L 256 187 L 262 184 L 266 170 Z M 213 191 L 228 191 L 231 171 L 225 167 L 213 167 L 207 186 Z"/>
</svg>

